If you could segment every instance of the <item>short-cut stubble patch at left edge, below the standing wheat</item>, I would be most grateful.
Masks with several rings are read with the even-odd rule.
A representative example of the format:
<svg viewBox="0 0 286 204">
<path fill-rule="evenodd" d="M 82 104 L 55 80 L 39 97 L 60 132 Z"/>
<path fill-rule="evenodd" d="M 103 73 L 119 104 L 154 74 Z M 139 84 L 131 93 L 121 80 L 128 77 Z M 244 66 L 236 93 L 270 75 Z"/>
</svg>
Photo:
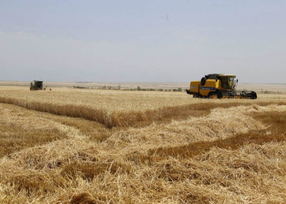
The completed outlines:
<svg viewBox="0 0 286 204">
<path fill-rule="evenodd" d="M 87 138 L 102 141 L 116 131 L 89 120 L 0 105 L 0 155 L 57 139 Z"/>
</svg>

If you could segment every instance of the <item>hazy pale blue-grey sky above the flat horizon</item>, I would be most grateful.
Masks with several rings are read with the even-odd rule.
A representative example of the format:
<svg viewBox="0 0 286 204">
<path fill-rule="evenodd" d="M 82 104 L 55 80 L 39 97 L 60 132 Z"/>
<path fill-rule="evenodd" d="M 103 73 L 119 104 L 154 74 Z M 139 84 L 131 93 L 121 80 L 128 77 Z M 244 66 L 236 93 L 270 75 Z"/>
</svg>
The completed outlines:
<svg viewBox="0 0 286 204">
<path fill-rule="evenodd" d="M 285 65 L 285 0 L 0 0 L 0 80 L 286 83 Z"/>
</svg>

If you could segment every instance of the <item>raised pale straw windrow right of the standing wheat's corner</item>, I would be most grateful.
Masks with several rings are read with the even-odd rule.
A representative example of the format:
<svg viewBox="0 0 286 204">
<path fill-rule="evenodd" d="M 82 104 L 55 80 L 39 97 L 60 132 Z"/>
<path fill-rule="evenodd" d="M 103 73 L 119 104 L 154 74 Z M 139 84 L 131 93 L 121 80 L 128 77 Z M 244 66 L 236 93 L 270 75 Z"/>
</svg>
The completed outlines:
<svg viewBox="0 0 286 204">
<path fill-rule="evenodd" d="M 186 120 L 172 121 L 167 124 L 153 124 L 143 128 L 128 128 L 107 138 L 102 145 L 106 148 L 114 146 L 114 155 L 120 155 L 120 149 L 130 154 L 146 152 L 156 147 L 175 147 L 190 142 L 213 141 L 225 139 L 233 134 L 247 133 L 250 130 L 263 129 L 264 125 L 248 116 L 247 113 L 257 111 L 254 107 L 240 106 L 229 109 L 213 109 L 209 115 L 190 117 Z M 260 110 L 271 110 L 276 105 L 259 107 Z M 286 110 L 286 106 L 281 106 Z M 239 110 L 239 111 L 237 111 Z M 111 151 L 110 151 L 111 152 Z"/>
</svg>

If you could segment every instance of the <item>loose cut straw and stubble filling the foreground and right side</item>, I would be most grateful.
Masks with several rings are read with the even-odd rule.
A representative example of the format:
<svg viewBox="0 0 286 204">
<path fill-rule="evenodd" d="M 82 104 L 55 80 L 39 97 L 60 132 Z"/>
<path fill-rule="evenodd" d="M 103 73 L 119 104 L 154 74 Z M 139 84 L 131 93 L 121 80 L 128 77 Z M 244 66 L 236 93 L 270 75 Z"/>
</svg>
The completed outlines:
<svg viewBox="0 0 286 204">
<path fill-rule="evenodd" d="M 101 142 L 78 132 L 86 127 L 83 120 L 76 129 L 69 125 L 77 119 L 55 116 L 55 121 L 68 125 L 51 124 L 65 130 L 69 138 L 3 157 L 0 201 L 283 203 L 286 106 L 222 107 L 202 117 L 124 128 Z M 251 137 L 255 138 L 247 139 Z M 168 149 L 194 144 L 194 154 L 186 154 L 189 149 L 183 149 L 183 154 Z"/>
</svg>

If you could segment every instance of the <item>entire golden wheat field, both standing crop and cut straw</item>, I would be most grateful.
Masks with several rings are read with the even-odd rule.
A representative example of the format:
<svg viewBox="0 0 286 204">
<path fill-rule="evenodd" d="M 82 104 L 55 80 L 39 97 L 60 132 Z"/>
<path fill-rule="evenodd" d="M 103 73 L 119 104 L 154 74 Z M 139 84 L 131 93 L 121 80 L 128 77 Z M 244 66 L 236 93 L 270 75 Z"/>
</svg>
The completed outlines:
<svg viewBox="0 0 286 204">
<path fill-rule="evenodd" d="M 0 203 L 285 203 L 286 95 L 0 87 Z"/>
</svg>

